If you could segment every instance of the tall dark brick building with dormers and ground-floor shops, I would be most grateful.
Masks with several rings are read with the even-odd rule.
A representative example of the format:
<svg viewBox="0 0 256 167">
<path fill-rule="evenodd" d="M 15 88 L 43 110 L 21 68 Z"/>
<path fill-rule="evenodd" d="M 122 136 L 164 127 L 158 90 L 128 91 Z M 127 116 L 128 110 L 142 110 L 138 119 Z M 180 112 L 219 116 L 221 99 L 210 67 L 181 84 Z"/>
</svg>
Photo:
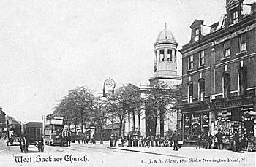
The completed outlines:
<svg viewBox="0 0 256 167">
<path fill-rule="evenodd" d="M 181 50 L 181 131 L 192 143 L 221 129 L 225 144 L 234 131 L 256 136 L 255 2 L 227 0 L 219 22 L 195 20 Z"/>
</svg>

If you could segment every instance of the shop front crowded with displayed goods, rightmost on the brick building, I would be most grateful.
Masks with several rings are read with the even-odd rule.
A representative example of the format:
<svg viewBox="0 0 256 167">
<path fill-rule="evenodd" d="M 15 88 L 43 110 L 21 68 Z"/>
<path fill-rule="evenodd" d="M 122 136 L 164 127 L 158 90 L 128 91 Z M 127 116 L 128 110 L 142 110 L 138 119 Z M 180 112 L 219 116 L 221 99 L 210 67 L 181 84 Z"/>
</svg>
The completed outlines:
<svg viewBox="0 0 256 167">
<path fill-rule="evenodd" d="M 247 138 L 255 136 L 255 98 L 233 97 L 213 100 L 215 106 L 215 133 L 220 130 L 223 134 L 224 149 L 232 149 L 233 136 L 237 131 L 239 136 Z"/>
</svg>

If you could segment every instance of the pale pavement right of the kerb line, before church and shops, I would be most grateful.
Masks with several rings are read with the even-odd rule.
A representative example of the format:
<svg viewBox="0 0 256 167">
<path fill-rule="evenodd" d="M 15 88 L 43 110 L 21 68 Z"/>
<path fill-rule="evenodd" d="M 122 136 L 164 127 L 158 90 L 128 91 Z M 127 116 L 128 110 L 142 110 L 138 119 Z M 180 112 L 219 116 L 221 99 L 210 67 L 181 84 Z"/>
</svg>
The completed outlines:
<svg viewBox="0 0 256 167">
<path fill-rule="evenodd" d="M 184 160 L 184 165 L 201 163 L 208 166 L 254 166 L 256 152 L 232 152 L 227 149 L 195 149 L 195 147 L 181 147 L 174 151 L 173 147 L 108 147 L 108 149 L 125 150 L 127 152 L 141 152 L 148 155 L 165 155 L 178 160 Z M 161 162 L 161 159 L 160 159 Z M 215 164 L 214 164 L 215 163 Z"/>
</svg>

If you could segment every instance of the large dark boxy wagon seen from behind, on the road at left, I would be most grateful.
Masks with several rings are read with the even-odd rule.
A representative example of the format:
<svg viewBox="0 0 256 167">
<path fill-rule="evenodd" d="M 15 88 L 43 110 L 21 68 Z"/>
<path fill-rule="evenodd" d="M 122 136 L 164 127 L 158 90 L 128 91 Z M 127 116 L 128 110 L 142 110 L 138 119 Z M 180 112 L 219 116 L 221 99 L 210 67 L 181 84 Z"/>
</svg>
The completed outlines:
<svg viewBox="0 0 256 167">
<path fill-rule="evenodd" d="M 21 152 L 28 152 L 29 146 L 37 147 L 39 152 L 44 152 L 42 123 L 29 122 L 23 125 L 23 133 L 20 136 Z"/>
</svg>

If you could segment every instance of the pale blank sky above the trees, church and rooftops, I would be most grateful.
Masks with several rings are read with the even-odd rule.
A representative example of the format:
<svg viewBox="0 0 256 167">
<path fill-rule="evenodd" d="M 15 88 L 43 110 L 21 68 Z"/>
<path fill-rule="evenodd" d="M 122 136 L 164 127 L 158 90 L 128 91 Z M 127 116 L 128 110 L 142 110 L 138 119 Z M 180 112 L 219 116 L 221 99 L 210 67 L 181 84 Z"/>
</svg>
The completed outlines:
<svg viewBox="0 0 256 167">
<path fill-rule="evenodd" d="M 0 106 L 29 122 L 78 86 L 100 95 L 109 77 L 146 84 L 165 23 L 181 49 L 195 19 L 211 25 L 224 13 L 225 0 L 0 1 Z"/>
</svg>

